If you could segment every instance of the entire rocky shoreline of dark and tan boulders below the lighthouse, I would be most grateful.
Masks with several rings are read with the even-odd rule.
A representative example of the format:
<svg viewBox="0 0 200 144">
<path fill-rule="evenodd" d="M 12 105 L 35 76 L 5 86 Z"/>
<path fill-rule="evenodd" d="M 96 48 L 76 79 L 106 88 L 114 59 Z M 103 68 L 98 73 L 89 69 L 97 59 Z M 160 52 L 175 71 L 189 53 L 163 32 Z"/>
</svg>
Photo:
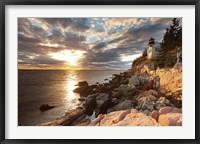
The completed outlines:
<svg viewBox="0 0 200 144">
<path fill-rule="evenodd" d="M 38 126 L 180 126 L 182 67 L 154 70 L 142 65 L 114 74 L 104 84 L 79 82 L 82 107 Z"/>
</svg>

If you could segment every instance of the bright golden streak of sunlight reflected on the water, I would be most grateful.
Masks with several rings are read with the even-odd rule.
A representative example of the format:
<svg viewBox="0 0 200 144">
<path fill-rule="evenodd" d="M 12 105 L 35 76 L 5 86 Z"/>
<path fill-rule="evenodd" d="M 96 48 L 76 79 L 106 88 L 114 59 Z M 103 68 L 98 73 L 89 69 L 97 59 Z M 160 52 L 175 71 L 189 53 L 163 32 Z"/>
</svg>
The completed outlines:
<svg viewBox="0 0 200 144">
<path fill-rule="evenodd" d="M 75 86 L 77 83 L 78 78 L 74 71 L 72 71 L 66 76 L 66 94 L 64 100 L 66 103 L 65 107 L 67 110 L 75 109 L 79 103 L 79 95 L 73 92 L 73 90 L 77 87 Z"/>
</svg>

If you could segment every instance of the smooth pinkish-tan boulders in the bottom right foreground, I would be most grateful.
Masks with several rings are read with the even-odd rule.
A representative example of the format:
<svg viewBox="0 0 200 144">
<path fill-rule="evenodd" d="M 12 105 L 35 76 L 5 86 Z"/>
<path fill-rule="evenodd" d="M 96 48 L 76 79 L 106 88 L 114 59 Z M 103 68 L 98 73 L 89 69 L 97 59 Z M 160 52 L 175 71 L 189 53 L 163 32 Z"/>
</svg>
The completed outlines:
<svg viewBox="0 0 200 144">
<path fill-rule="evenodd" d="M 136 109 L 111 112 L 99 115 L 91 126 L 181 126 L 182 110 L 164 107 L 153 111 L 150 116 Z"/>
</svg>

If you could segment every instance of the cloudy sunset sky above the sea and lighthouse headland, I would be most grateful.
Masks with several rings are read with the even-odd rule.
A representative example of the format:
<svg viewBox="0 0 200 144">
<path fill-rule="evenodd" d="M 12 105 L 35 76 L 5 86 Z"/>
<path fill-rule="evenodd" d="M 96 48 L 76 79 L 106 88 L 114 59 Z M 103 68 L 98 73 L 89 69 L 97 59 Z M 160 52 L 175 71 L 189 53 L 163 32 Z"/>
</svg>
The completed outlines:
<svg viewBox="0 0 200 144">
<path fill-rule="evenodd" d="M 18 18 L 18 68 L 127 70 L 171 19 Z"/>
</svg>

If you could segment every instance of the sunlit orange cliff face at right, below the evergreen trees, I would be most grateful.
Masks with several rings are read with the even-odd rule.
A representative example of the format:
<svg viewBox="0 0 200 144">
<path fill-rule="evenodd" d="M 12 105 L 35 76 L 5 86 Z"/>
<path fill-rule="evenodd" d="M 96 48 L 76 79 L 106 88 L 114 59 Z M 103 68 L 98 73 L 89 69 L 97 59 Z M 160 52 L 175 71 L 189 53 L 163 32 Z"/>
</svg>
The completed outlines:
<svg viewBox="0 0 200 144">
<path fill-rule="evenodd" d="M 150 70 L 144 66 L 141 73 L 157 78 L 159 81 L 157 90 L 175 103 L 177 107 L 182 106 L 182 66 L 175 65 L 173 68 L 157 68 L 156 70 Z"/>
</svg>

